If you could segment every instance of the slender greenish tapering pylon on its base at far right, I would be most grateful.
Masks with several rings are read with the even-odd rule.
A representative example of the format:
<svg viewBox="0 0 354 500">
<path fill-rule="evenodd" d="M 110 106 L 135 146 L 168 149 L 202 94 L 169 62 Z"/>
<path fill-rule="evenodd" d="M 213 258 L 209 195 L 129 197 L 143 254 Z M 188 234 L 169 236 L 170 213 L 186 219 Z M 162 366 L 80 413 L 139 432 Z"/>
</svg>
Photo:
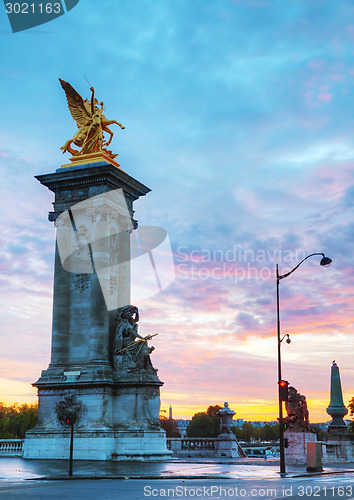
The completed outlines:
<svg viewBox="0 0 354 500">
<path fill-rule="evenodd" d="M 326 412 L 333 419 L 328 427 L 328 439 L 345 439 L 347 426 L 343 417 L 348 413 L 348 408 L 344 406 L 339 368 L 334 361 L 331 368 L 331 401 Z"/>
</svg>

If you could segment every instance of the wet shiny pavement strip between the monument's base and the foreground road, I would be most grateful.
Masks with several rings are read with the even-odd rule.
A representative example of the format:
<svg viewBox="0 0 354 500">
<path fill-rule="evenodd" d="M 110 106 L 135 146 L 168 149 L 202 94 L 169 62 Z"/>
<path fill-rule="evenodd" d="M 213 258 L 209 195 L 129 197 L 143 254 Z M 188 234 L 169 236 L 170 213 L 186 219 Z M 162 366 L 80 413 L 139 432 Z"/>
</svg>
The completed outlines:
<svg viewBox="0 0 354 500">
<path fill-rule="evenodd" d="M 65 479 L 69 461 L 24 460 L 19 457 L 0 457 L 0 480 Z M 288 466 L 289 477 L 354 473 L 352 464 L 324 466 L 322 473 L 308 474 L 305 465 Z M 101 462 L 74 460 L 73 478 L 86 479 L 252 479 L 278 478 L 279 460 L 179 458 L 169 462 Z"/>
</svg>

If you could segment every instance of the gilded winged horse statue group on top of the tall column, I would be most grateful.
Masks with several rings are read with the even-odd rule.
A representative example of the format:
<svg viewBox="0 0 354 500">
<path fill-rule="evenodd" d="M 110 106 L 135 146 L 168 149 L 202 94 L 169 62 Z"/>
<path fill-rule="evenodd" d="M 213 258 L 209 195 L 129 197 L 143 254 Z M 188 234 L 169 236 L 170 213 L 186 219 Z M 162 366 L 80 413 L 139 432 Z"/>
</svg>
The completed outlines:
<svg viewBox="0 0 354 500">
<path fill-rule="evenodd" d="M 111 158 L 118 156 L 107 149 L 113 139 L 113 132 L 108 128 L 109 125 L 115 123 L 121 129 L 123 125 L 116 120 L 107 120 L 103 114 L 103 102 L 98 103 L 95 98 L 95 90 L 91 90 L 91 99 L 83 99 L 78 92 L 70 85 L 59 78 L 60 84 L 64 89 L 66 99 L 68 101 L 69 111 L 71 116 L 76 121 L 79 129 L 74 137 L 64 144 L 60 149 L 63 153 L 69 151 L 73 156 L 86 155 L 90 153 L 104 153 Z M 104 132 L 109 134 L 109 139 L 104 138 Z M 81 148 L 80 150 L 73 149 L 72 144 Z"/>
</svg>

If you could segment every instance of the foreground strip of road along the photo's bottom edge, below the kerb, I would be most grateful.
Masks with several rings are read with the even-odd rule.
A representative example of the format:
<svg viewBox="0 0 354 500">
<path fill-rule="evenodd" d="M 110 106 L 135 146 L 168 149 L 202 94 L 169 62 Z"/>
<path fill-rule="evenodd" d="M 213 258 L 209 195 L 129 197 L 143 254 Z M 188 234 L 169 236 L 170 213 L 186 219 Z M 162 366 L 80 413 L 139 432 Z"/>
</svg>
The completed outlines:
<svg viewBox="0 0 354 500">
<path fill-rule="evenodd" d="M 353 500 L 350 474 L 278 479 L 4 480 L 0 498 L 143 500 L 148 498 L 252 498 Z"/>
</svg>

